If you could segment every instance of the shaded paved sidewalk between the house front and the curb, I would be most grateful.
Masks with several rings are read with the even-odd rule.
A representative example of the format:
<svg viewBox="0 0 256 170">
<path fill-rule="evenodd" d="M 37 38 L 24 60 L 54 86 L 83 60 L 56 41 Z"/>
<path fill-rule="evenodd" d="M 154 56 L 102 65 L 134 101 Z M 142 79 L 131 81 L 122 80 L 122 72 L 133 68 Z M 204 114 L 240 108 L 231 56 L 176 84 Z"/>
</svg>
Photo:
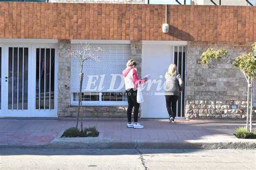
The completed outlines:
<svg viewBox="0 0 256 170">
<path fill-rule="evenodd" d="M 85 127 L 96 126 L 99 138 L 131 141 L 183 141 L 235 139 L 233 133 L 245 120 L 178 120 L 175 124 L 167 119 L 142 119 L 144 129 L 126 128 L 125 118 L 85 118 Z M 76 119 L 0 119 L 0 144 L 3 145 L 45 145 L 56 136 L 76 125 Z M 80 125 L 80 123 L 79 123 Z"/>
</svg>

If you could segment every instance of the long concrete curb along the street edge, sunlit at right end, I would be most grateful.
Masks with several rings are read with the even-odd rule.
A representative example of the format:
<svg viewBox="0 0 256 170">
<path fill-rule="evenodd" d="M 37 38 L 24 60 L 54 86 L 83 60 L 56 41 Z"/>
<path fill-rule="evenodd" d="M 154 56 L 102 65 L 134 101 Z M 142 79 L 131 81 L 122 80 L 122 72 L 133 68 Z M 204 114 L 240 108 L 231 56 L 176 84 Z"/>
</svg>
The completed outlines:
<svg viewBox="0 0 256 170">
<path fill-rule="evenodd" d="M 54 141 L 46 145 L 0 145 L 0 148 L 95 148 L 95 149 L 235 149 L 255 150 L 255 142 L 139 142 L 139 141 L 96 141 L 96 142 L 72 142 Z"/>
</svg>

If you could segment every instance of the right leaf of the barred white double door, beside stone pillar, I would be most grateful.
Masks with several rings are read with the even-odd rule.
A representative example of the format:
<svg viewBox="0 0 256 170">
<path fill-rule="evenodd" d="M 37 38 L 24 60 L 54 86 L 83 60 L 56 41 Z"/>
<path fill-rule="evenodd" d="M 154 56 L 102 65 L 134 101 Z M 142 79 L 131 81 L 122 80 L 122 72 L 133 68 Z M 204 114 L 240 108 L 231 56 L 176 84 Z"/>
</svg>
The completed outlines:
<svg viewBox="0 0 256 170">
<path fill-rule="evenodd" d="M 57 117 L 57 48 L 56 45 L 32 47 L 33 115 Z"/>
</svg>

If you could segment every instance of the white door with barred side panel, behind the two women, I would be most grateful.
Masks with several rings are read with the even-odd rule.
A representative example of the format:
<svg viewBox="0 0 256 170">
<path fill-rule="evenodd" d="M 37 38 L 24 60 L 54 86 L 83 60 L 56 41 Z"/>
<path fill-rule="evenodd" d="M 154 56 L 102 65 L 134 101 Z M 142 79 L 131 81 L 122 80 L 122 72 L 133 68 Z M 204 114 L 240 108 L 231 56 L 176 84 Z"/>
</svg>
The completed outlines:
<svg viewBox="0 0 256 170">
<path fill-rule="evenodd" d="M 172 42 L 174 43 L 174 42 Z M 184 43 L 185 44 L 185 43 Z M 168 42 L 143 43 L 142 48 L 142 76 L 151 74 L 150 80 L 143 90 L 142 118 L 168 118 L 164 96 L 165 73 L 171 63 L 176 63 L 178 70 L 185 80 L 185 48 L 186 46 L 172 45 Z M 177 52 L 177 50 L 180 50 Z M 183 50 L 183 51 L 182 51 Z M 182 62 L 182 64 L 181 64 Z M 153 82 L 149 88 L 150 81 Z M 185 81 L 184 81 L 185 82 Z M 149 88 L 149 90 L 147 90 Z M 184 90 L 185 91 L 185 90 Z M 177 102 L 177 118 L 184 117 L 185 94 L 181 94 Z"/>
</svg>

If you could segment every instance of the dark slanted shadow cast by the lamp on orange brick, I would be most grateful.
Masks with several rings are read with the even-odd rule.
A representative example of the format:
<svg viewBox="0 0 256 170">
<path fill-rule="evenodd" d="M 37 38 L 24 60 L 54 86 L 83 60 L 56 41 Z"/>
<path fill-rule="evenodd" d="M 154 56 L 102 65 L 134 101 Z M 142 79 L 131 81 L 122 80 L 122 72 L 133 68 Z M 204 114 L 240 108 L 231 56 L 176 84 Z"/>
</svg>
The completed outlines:
<svg viewBox="0 0 256 170">
<path fill-rule="evenodd" d="M 194 38 L 191 36 L 191 34 L 172 25 L 169 25 L 169 32 L 167 34 L 181 41 L 194 41 Z"/>
</svg>

